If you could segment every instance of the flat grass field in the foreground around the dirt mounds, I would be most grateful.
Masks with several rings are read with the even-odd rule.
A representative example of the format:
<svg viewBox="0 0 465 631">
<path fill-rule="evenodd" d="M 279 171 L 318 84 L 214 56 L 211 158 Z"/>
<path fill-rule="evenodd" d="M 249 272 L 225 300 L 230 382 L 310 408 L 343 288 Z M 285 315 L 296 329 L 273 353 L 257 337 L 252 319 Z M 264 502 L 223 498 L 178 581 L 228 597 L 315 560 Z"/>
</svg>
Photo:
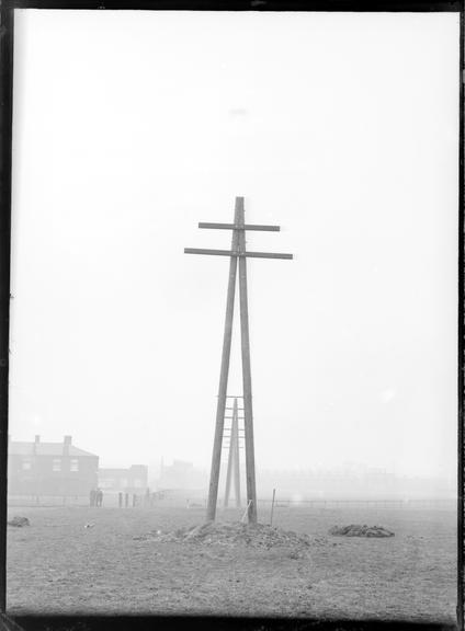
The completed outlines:
<svg viewBox="0 0 465 631">
<path fill-rule="evenodd" d="M 392 619 L 453 623 L 456 516 L 452 510 L 275 508 L 273 526 L 305 532 L 308 554 L 137 539 L 201 524 L 202 508 L 20 508 L 8 531 L 8 611 L 202 613 Z M 238 519 L 235 509 L 218 519 Z M 261 519 L 260 519 L 261 518 Z M 259 519 L 269 519 L 269 509 Z M 84 528 L 92 523 L 92 528 Z M 331 537 L 344 524 L 381 525 L 387 539 Z M 134 539 L 136 537 L 136 539 Z"/>
</svg>

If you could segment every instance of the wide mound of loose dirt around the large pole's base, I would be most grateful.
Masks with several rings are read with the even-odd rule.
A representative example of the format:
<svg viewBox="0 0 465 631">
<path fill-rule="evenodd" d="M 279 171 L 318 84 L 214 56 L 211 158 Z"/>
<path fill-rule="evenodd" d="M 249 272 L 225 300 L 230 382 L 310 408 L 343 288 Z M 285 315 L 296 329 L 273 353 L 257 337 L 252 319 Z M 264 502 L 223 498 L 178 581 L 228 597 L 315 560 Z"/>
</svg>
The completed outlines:
<svg viewBox="0 0 465 631">
<path fill-rule="evenodd" d="M 273 528 L 265 524 L 216 523 L 181 528 L 173 532 L 152 531 L 149 536 L 156 541 L 178 541 L 205 546 L 248 546 L 270 550 L 274 547 L 287 548 L 291 552 L 306 551 L 310 546 L 308 535 Z M 140 539 L 140 538 L 138 538 Z"/>
</svg>

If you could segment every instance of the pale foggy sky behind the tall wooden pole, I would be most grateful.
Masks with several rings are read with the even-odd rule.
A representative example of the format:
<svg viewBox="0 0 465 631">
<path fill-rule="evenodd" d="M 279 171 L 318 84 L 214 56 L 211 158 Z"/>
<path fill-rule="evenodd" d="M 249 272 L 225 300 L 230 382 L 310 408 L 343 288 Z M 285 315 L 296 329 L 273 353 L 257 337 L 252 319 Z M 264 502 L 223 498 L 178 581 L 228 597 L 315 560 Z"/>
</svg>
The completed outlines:
<svg viewBox="0 0 465 631">
<path fill-rule="evenodd" d="M 207 467 L 243 195 L 258 468 L 453 475 L 458 14 L 16 11 L 10 434 Z M 238 313 L 237 313 L 238 316 Z M 240 339 L 230 393 L 241 392 Z"/>
</svg>

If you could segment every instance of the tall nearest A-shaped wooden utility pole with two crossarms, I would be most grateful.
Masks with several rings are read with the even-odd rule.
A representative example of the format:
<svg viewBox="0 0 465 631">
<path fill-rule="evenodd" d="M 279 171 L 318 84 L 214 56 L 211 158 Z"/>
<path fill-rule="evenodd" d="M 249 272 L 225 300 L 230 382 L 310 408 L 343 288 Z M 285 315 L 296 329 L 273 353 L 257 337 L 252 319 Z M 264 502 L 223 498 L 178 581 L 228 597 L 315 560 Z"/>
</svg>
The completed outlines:
<svg viewBox="0 0 465 631">
<path fill-rule="evenodd" d="M 236 197 L 234 223 L 199 223 L 199 228 L 232 230 L 230 250 L 205 250 L 185 248 L 185 254 L 209 254 L 229 256 L 229 282 L 226 298 L 225 332 L 223 340 L 222 367 L 219 370 L 218 401 L 216 406 L 215 437 L 213 443 L 212 472 L 209 478 L 208 502 L 206 510 L 207 521 L 216 516 L 218 501 L 219 469 L 222 460 L 222 441 L 225 427 L 225 411 L 227 386 L 229 375 L 229 358 L 232 337 L 232 316 L 236 291 L 237 260 L 239 259 L 239 299 L 240 299 L 240 334 L 242 352 L 242 387 L 243 387 L 243 416 L 246 441 L 246 479 L 247 479 L 247 516 L 249 524 L 257 523 L 257 490 L 256 463 L 253 449 L 253 413 L 252 413 L 252 379 L 250 368 L 249 341 L 249 308 L 247 299 L 247 259 L 292 259 L 292 254 L 273 252 L 248 252 L 246 250 L 246 230 L 279 231 L 279 226 L 258 226 L 245 222 L 243 197 Z"/>
</svg>

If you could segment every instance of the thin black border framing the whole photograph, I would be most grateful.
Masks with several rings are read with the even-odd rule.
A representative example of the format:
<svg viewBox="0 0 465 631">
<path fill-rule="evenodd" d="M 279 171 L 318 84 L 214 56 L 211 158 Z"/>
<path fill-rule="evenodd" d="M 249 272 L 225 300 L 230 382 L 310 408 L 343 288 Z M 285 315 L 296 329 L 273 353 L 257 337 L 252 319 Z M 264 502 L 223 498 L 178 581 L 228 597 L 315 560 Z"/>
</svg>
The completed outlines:
<svg viewBox="0 0 465 631">
<path fill-rule="evenodd" d="M 7 493 L 8 412 L 10 335 L 10 254 L 12 181 L 13 41 L 15 9 L 56 10 L 144 10 L 144 11 L 343 11 L 343 12 L 458 12 L 460 28 L 460 165 L 458 192 L 458 344 L 457 344 L 457 618 L 456 624 L 415 623 L 393 620 L 317 620 L 292 618 L 222 618 L 162 616 L 19 616 L 7 613 Z M 201 624 L 205 630 L 304 631 L 331 629 L 444 630 L 464 629 L 464 25 L 465 4 L 458 0 L 0 0 L 0 630 L 21 631 L 97 629 L 188 630 Z"/>
</svg>

